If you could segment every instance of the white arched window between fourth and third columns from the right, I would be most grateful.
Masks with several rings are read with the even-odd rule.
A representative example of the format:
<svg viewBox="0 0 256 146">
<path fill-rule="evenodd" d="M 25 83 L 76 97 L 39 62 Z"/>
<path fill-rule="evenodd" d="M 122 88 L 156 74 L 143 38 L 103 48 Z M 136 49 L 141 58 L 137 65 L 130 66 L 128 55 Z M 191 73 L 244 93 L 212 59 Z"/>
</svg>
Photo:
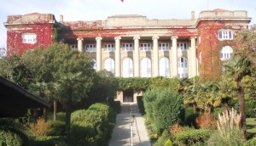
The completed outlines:
<svg viewBox="0 0 256 146">
<path fill-rule="evenodd" d="M 148 58 L 142 59 L 141 77 L 151 77 L 151 60 Z"/>
</svg>

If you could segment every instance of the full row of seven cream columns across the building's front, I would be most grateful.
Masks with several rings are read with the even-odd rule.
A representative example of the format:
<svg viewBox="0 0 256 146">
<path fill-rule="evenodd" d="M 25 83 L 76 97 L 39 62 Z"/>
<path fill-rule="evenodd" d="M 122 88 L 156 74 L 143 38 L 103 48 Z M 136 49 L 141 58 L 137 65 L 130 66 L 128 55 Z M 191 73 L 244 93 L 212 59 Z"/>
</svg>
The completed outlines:
<svg viewBox="0 0 256 146">
<path fill-rule="evenodd" d="M 172 65 L 171 77 L 177 77 L 177 36 L 172 36 Z M 134 36 L 134 76 L 139 77 L 140 74 L 140 56 L 139 56 L 139 39 L 140 36 Z M 159 36 L 153 36 L 153 76 L 159 76 L 159 48 L 158 48 Z M 79 51 L 83 51 L 83 38 L 78 38 Z M 120 36 L 114 37 L 115 41 L 115 76 L 121 76 L 120 70 Z M 196 76 L 196 48 L 195 37 L 190 38 L 191 41 L 191 61 L 192 62 L 192 76 Z M 102 70 L 102 37 L 96 37 L 96 70 Z"/>
</svg>

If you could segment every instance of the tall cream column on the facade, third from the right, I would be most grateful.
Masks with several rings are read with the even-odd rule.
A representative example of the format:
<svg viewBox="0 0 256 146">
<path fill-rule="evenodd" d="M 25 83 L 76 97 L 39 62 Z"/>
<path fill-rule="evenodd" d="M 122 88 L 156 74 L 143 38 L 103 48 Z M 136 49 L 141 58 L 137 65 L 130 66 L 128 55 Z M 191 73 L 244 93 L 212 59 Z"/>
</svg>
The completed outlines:
<svg viewBox="0 0 256 146">
<path fill-rule="evenodd" d="M 159 76 L 159 48 L 158 48 L 159 36 L 153 36 L 153 76 Z"/>
</svg>

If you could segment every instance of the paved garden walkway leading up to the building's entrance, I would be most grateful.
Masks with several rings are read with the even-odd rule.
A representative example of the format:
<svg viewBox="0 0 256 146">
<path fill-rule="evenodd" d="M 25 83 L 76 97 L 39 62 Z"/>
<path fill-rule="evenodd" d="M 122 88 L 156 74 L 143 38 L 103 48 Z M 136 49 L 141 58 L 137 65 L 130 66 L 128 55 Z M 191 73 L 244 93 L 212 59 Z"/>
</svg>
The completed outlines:
<svg viewBox="0 0 256 146">
<path fill-rule="evenodd" d="M 138 113 L 137 104 L 122 104 L 121 106 L 121 113 L 116 117 L 109 146 L 131 146 L 131 110 L 133 111 L 132 115 L 135 115 L 132 124 L 132 144 L 134 146 L 150 146 L 144 119 Z"/>
</svg>

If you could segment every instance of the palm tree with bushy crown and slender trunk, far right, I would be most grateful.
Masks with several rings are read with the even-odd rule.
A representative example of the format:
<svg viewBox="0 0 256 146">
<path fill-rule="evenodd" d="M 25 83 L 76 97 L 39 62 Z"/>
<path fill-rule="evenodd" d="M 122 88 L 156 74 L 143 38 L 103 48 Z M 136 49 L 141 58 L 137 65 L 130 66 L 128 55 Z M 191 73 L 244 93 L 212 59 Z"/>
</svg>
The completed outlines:
<svg viewBox="0 0 256 146">
<path fill-rule="evenodd" d="M 247 56 L 237 56 L 228 61 L 225 67 L 225 75 L 233 77 L 237 84 L 239 98 L 239 109 L 241 113 L 241 129 L 243 135 L 246 133 L 246 111 L 245 111 L 245 87 L 243 78 L 250 76 L 253 70 L 253 63 Z"/>
</svg>

